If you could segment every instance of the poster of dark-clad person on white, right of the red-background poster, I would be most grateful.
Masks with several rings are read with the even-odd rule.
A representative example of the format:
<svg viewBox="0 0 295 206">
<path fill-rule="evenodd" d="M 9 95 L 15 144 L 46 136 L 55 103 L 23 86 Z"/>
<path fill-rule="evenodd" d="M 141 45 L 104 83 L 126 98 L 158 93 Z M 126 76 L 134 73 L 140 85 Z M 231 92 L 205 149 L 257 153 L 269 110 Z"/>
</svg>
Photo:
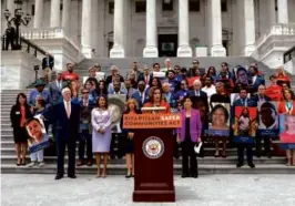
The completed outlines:
<svg viewBox="0 0 295 206">
<path fill-rule="evenodd" d="M 258 104 L 258 130 L 257 133 L 269 138 L 277 136 L 278 114 L 275 102 L 260 101 Z"/>
</svg>

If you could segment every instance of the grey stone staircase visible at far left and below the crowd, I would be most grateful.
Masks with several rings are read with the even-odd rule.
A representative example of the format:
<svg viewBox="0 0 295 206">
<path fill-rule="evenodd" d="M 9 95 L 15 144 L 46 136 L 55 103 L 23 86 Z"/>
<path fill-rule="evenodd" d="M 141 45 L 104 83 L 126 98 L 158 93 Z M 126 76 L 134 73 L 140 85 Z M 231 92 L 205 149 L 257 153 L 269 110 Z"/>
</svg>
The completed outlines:
<svg viewBox="0 0 295 206">
<path fill-rule="evenodd" d="M 16 102 L 18 93 L 29 93 L 29 90 L 4 90 L 1 91 L 1 173 L 30 173 L 30 174 L 54 174 L 55 156 L 45 156 L 44 167 L 28 168 L 26 166 L 17 166 L 12 128 L 10 126 L 10 109 Z M 116 151 L 115 148 L 114 151 Z M 214 158 L 214 148 L 207 146 L 205 148 L 205 157 L 199 158 L 199 171 L 201 174 L 295 174 L 295 167 L 285 166 L 285 156 L 273 156 L 272 158 L 254 158 L 256 168 L 252 169 L 247 166 L 236 168 L 237 162 L 236 148 L 227 148 L 227 158 Z M 27 163 L 29 163 L 29 155 Z M 68 158 L 65 158 L 65 164 Z M 67 165 L 65 165 L 67 168 Z M 181 159 L 174 159 L 175 174 L 181 174 Z M 82 166 L 77 167 L 78 174 L 95 174 L 96 167 Z M 109 174 L 124 175 L 126 173 L 124 158 L 110 159 Z"/>
</svg>

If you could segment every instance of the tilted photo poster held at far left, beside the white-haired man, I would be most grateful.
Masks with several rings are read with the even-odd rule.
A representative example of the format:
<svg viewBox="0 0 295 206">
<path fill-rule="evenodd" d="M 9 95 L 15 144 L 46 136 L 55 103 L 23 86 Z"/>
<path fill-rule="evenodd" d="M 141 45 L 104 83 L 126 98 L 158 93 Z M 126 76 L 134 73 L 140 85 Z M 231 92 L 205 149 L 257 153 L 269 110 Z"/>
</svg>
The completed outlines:
<svg viewBox="0 0 295 206">
<path fill-rule="evenodd" d="M 26 122 L 29 152 L 35 153 L 50 146 L 49 137 L 41 115 L 35 115 Z"/>
</svg>

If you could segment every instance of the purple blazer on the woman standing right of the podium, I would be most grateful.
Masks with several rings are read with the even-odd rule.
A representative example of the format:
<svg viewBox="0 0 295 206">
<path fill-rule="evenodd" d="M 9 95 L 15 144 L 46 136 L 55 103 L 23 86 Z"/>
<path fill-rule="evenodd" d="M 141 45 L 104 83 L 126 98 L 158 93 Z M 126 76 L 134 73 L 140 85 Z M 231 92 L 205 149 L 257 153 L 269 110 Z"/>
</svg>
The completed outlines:
<svg viewBox="0 0 295 206">
<path fill-rule="evenodd" d="M 180 135 L 181 142 L 185 140 L 185 110 L 181 111 L 182 127 L 177 128 L 177 134 Z M 199 136 L 201 136 L 202 122 L 199 110 L 192 109 L 190 119 L 190 133 L 192 142 L 196 142 Z"/>
</svg>

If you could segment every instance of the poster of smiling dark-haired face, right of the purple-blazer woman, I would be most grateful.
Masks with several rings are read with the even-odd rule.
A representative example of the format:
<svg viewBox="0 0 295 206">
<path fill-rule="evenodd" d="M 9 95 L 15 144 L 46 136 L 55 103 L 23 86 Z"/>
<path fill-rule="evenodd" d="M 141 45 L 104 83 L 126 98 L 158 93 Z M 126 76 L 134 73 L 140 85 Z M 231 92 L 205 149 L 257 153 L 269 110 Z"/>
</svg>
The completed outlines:
<svg viewBox="0 0 295 206">
<path fill-rule="evenodd" d="M 208 115 L 207 134 L 213 136 L 228 136 L 230 135 L 230 103 L 212 103 L 212 110 Z"/>
</svg>

